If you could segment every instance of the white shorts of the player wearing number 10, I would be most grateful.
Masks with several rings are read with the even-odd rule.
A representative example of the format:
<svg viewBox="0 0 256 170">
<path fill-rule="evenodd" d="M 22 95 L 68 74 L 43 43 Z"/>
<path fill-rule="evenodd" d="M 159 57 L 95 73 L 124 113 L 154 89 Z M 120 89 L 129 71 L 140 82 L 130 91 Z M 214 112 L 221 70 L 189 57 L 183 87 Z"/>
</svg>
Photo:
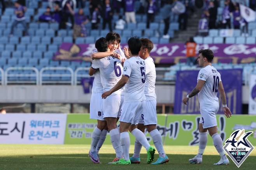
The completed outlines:
<svg viewBox="0 0 256 170">
<path fill-rule="evenodd" d="M 203 128 L 217 126 L 216 114 L 219 108 L 202 108 L 200 109 L 201 117 L 199 123 L 202 123 Z"/>
</svg>

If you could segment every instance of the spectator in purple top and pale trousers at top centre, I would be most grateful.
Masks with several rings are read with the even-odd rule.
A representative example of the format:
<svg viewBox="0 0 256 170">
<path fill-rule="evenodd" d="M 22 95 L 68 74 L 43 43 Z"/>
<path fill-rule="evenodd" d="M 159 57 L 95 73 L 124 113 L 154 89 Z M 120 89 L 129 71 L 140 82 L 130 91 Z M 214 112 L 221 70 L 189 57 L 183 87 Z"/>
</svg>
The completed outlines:
<svg viewBox="0 0 256 170">
<path fill-rule="evenodd" d="M 124 0 L 126 23 L 130 23 L 130 22 L 136 23 L 134 2 L 135 0 Z"/>
</svg>

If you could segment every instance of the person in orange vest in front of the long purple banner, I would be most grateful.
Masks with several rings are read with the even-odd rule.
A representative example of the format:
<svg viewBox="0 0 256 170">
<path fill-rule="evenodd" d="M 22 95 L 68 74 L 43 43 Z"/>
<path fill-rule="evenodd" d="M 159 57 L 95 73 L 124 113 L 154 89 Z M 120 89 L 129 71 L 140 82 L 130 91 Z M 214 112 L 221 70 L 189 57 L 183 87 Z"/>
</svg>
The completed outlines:
<svg viewBox="0 0 256 170">
<path fill-rule="evenodd" d="M 196 42 L 194 41 L 193 37 L 190 37 L 189 40 L 186 42 L 187 65 L 192 66 L 194 64 L 195 56 L 196 56 Z"/>
</svg>

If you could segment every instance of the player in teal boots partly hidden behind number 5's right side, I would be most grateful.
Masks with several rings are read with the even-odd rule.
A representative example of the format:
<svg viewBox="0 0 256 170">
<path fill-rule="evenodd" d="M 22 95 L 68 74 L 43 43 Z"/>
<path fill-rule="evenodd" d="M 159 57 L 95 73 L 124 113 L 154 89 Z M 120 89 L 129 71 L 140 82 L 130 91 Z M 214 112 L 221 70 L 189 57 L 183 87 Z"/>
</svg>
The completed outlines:
<svg viewBox="0 0 256 170">
<path fill-rule="evenodd" d="M 169 161 L 165 151 L 163 149 L 162 137 L 156 128 L 157 117 L 156 117 L 156 68 L 153 59 L 150 57 L 150 52 L 154 48 L 153 43 L 148 38 L 141 38 L 142 46 L 140 48 L 139 56 L 144 59 L 146 64 L 146 82 L 145 82 L 145 96 L 146 96 L 146 107 L 140 116 L 138 129 L 145 132 L 145 126 L 147 131 L 151 135 L 154 145 L 159 153 L 159 158 L 152 164 L 162 164 Z M 142 145 L 138 140 L 135 141 L 134 154 L 130 158 L 131 163 L 140 163 L 140 150 Z"/>
</svg>

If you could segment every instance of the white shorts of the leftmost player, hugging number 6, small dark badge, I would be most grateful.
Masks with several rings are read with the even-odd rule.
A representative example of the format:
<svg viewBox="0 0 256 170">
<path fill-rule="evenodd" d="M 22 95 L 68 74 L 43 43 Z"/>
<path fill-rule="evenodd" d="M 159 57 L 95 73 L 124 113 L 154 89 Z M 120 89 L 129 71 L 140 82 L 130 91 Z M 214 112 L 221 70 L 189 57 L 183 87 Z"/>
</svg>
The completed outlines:
<svg viewBox="0 0 256 170">
<path fill-rule="evenodd" d="M 102 111 L 102 93 L 92 93 L 90 101 L 90 119 L 104 120 Z"/>
</svg>

